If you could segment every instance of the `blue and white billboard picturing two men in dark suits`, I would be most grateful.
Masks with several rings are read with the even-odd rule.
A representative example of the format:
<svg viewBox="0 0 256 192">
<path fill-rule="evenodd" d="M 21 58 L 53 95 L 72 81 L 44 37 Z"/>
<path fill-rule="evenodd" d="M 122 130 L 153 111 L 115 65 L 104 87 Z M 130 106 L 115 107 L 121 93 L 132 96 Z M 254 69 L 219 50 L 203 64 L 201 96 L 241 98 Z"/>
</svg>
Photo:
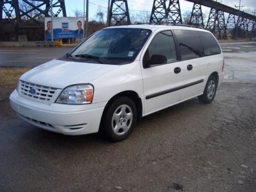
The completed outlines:
<svg viewBox="0 0 256 192">
<path fill-rule="evenodd" d="M 53 38 L 76 38 L 83 34 L 83 17 L 45 17 L 45 39 L 51 39 L 53 26 Z"/>
</svg>

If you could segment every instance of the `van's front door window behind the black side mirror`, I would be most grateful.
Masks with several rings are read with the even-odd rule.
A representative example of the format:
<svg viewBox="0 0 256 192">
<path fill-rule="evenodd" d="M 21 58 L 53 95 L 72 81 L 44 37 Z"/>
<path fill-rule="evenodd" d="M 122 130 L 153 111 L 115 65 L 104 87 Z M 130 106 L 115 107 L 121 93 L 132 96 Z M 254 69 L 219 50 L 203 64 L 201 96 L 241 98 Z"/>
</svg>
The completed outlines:
<svg viewBox="0 0 256 192">
<path fill-rule="evenodd" d="M 153 38 L 148 46 L 143 57 L 143 66 L 146 68 L 176 60 L 173 34 L 170 31 L 162 31 Z"/>
</svg>

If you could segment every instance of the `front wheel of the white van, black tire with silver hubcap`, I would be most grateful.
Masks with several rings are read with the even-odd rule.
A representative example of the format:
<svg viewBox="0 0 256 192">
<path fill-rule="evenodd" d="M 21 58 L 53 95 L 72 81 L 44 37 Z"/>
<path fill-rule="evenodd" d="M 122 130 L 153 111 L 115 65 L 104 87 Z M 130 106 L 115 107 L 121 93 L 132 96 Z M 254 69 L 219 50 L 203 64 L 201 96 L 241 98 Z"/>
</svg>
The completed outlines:
<svg viewBox="0 0 256 192">
<path fill-rule="evenodd" d="M 106 108 L 103 117 L 102 133 L 110 141 L 118 142 L 129 137 L 137 120 L 134 101 L 128 97 L 115 99 Z"/>
</svg>

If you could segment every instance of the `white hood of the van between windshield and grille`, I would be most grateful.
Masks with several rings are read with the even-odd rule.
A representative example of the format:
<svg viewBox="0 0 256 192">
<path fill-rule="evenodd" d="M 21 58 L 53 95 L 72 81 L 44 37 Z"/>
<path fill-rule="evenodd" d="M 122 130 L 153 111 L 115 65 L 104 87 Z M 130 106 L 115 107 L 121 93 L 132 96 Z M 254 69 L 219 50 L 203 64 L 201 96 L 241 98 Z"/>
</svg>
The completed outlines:
<svg viewBox="0 0 256 192">
<path fill-rule="evenodd" d="M 20 79 L 41 86 L 63 89 L 72 84 L 90 83 L 118 67 L 120 66 L 54 59 L 28 71 Z"/>
</svg>

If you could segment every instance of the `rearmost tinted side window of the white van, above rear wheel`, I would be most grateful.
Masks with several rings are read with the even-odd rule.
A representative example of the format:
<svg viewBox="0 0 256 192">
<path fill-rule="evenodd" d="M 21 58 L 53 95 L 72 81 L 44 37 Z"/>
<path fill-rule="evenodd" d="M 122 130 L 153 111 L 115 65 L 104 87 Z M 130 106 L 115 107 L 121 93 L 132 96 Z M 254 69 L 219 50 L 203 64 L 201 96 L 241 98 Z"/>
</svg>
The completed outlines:
<svg viewBox="0 0 256 192">
<path fill-rule="evenodd" d="M 202 40 L 205 56 L 221 53 L 221 48 L 216 38 L 211 33 L 198 31 L 198 34 Z"/>
</svg>

